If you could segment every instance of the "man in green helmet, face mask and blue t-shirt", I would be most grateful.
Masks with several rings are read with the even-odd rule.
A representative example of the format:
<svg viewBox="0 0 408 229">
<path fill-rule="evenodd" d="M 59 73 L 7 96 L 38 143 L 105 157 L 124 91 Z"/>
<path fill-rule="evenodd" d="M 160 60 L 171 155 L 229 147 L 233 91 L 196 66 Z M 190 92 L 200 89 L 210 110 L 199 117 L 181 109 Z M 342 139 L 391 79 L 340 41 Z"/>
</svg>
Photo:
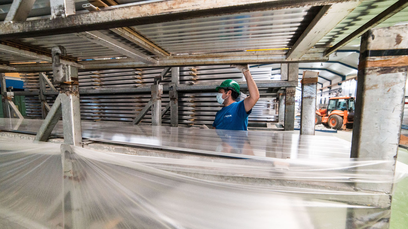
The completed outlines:
<svg viewBox="0 0 408 229">
<path fill-rule="evenodd" d="M 248 84 L 249 96 L 242 101 L 236 102 L 239 96 L 239 84 L 233 79 L 226 79 L 216 89 L 218 90 L 217 101 L 224 105 L 215 114 L 213 129 L 222 130 L 248 130 L 248 115 L 259 99 L 259 91 L 249 71 L 248 64 L 232 64 L 231 67 L 240 70 Z"/>
</svg>

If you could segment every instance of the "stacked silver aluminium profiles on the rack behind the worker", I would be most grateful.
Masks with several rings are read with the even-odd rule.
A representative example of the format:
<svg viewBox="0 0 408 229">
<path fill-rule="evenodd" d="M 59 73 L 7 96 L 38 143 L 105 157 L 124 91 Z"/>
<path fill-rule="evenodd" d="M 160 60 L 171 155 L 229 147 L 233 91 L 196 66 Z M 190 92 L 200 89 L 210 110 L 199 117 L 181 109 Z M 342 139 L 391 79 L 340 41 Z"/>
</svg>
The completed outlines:
<svg viewBox="0 0 408 229">
<path fill-rule="evenodd" d="M 98 90 L 102 88 L 137 88 L 150 86 L 154 77 L 162 72 L 163 68 L 134 68 L 99 70 L 78 73 L 80 90 Z M 256 80 L 271 79 L 271 68 L 251 68 Z M 52 73 L 46 73 L 52 81 Z M 26 91 L 39 91 L 38 73 L 22 74 Z M 229 66 L 195 66 L 180 68 L 180 84 L 208 84 L 221 83 L 225 79 L 245 81 L 243 74 L 236 68 Z M 161 84 L 169 84 L 171 72 Z M 54 85 L 56 88 L 57 84 Z M 57 88 L 58 90 L 58 88 Z M 247 90 L 243 90 L 248 95 Z M 259 89 L 261 98 L 252 110 L 248 121 L 277 122 L 277 95 L 267 89 Z M 215 114 L 222 106 L 217 103 L 216 91 L 180 91 L 179 92 L 179 123 L 207 124 L 213 123 Z M 140 110 L 150 100 L 150 92 L 126 94 L 81 94 L 81 119 L 94 121 L 133 121 Z M 47 96 L 51 106 L 55 96 Z M 169 95 L 164 92 L 162 108 L 170 101 Z M 26 96 L 27 116 L 41 117 L 40 101 L 37 96 Z M 141 122 L 151 122 L 149 111 Z M 170 112 L 163 117 L 163 123 L 170 123 Z"/>
</svg>

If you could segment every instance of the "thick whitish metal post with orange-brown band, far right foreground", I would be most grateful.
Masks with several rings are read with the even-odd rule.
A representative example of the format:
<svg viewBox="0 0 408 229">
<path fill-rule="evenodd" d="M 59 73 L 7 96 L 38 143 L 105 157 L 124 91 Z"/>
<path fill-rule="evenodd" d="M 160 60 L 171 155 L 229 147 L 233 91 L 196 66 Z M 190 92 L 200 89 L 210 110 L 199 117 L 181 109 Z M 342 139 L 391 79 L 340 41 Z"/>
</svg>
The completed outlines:
<svg viewBox="0 0 408 229">
<path fill-rule="evenodd" d="M 397 159 L 407 79 L 407 39 L 406 25 L 371 29 L 361 36 L 352 158 Z M 391 169 L 395 170 L 395 163 Z M 391 207 L 392 183 L 359 183 L 355 188 L 388 194 Z M 389 216 L 390 210 L 384 220 L 370 227 L 388 228 Z M 348 227 L 359 227 L 359 212 L 353 211 L 352 217 Z"/>
</svg>

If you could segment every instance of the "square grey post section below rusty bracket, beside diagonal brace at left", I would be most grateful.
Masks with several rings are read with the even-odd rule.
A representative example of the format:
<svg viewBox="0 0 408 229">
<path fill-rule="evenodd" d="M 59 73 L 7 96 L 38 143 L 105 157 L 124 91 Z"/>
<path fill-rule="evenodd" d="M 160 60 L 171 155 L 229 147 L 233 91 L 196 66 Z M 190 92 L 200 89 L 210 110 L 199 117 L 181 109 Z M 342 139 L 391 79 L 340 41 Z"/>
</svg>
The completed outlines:
<svg viewBox="0 0 408 229">
<path fill-rule="evenodd" d="M 81 110 L 76 85 L 61 84 L 62 125 L 64 130 L 64 143 L 80 145 L 82 141 Z"/>
</svg>

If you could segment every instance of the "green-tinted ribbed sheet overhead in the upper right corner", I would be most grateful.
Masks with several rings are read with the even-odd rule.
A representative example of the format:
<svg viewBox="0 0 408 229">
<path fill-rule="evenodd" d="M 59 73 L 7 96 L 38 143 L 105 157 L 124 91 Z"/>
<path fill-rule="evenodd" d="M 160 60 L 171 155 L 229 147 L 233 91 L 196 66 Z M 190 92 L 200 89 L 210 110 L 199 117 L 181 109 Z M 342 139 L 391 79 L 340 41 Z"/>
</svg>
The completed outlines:
<svg viewBox="0 0 408 229">
<path fill-rule="evenodd" d="M 334 45 L 347 35 L 373 19 L 379 13 L 390 7 L 397 0 L 365 0 L 356 7 L 346 18 L 344 18 L 335 28 L 324 36 L 316 46 Z M 408 21 L 408 8 L 388 18 L 377 27 L 393 26 L 398 22 Z M 348 45 L 360 44 L 360 38 L 348 43 Z"/>
</svg>

